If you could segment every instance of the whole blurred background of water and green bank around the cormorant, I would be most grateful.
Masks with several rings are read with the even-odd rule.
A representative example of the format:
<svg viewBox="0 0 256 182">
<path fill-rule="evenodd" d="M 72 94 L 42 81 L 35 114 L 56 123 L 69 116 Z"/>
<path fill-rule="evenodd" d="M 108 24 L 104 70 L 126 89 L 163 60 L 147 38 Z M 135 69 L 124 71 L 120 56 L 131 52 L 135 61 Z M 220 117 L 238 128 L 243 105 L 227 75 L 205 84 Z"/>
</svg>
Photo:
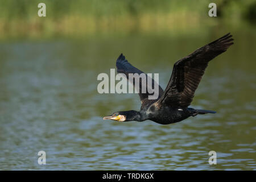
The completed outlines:
<svg viewBox="0 0 256 182">
<path fill-rule="evenodd" d="M 234 45 L 210 62 L 192 102 L 217 114 L 164 126 L 102 120 L 141 105 L 137 94 L 97 92 L 120 53 L 159 73 L 164 89 L 175 61 L 228 32 Z M 255 0 L 0 0 L 0 169 L 256 169 L 255 32 Z"/>
</svg>

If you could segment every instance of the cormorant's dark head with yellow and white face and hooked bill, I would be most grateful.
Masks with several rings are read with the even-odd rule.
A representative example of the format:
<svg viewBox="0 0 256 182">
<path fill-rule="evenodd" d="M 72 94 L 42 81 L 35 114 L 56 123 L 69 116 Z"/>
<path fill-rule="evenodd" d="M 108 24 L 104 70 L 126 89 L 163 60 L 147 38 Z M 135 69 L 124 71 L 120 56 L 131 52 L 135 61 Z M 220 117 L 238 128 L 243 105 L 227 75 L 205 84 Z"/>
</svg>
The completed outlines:
<svg viewBox="0 0 256 182">
<path fill-rule="evenodd" d="M 135 110 L 128 111 L 118 111 L 109 116 L 104 117 L 103 119 L 111 119 L 115 121 L 134 121 L 140 117 L 139 112 Z M 137 121 L 137 120 L 136 120 Z"/>
</svg>

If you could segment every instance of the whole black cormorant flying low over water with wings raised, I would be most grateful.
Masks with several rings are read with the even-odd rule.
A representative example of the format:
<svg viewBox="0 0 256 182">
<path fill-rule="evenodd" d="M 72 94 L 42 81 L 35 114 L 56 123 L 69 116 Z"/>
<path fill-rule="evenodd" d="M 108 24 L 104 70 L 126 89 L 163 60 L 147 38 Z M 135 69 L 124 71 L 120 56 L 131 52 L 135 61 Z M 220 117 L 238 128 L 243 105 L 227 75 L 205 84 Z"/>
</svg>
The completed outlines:
<svg viewBox="0 0 256 182">
<path fill-rule="evenodd" d="M 150 93 L 139 93 L 141 98 L 141 110 L 118 111 L 104 117 L 114 121 L 145 121 L 147 119 L 162 125 L 176 123 L 197 114 L 216 113 L 216 111 L 193 109 L 188 107 L 194 97 L 199 82 L 204 75 L 205 68 L 210 60 L 225 52 L 233 44 L 232 35 L 226 34 L 199 49 L 190 55 L 183 57 L 174 64 L 171 78 L 165 90 L 154 80 L 152 84 L 159 87 L 159 97 L 149 100 Z M 128 79 L 129 73 L 143 73 L 133 67 L 122 54 L 117 59 L 117 72 L 125 74 Z M 130 81 L 130 80 L 129 80 Z M 134 85 L 134 81 L 133 81 Z M 135 85 L 134 85 L 135 86 Z M 139 90 L 142 90 L 140 81 Z"/>
</svg>

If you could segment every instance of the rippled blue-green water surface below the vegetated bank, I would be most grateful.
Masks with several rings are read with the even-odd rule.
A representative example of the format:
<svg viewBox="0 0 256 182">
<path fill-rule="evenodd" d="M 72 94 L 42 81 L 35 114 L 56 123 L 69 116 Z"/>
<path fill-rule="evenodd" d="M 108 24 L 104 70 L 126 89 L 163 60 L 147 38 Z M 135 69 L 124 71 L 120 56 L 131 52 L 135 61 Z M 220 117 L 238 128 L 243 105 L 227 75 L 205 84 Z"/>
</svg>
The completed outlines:
<svg viewBox="0 0 256 182">
<path fill-rule="evenodd" d="M 159 73 L 165 88 L 174 62 L 215 38 L 2 43 L 0 169 L 255 169 L 254 35 L 234 35 L 197 89 L 193 107 L 217 114 L 165 126 L 102 120 L 140 107 L 136 94 L 97 93 L 98 73 L 109 73 L 119 53 Z M 37 164 L 40 150 L 46 166 Z M 211 150 L 217 165 L 208 163 Z"/>
</svg>

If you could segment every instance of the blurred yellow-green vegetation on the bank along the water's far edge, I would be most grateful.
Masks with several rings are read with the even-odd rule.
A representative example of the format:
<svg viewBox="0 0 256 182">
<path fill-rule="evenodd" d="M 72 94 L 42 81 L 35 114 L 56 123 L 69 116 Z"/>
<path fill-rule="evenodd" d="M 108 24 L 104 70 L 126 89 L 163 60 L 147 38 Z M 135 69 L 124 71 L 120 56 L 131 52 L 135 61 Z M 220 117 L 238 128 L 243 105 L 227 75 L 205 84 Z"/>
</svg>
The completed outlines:
<svg viewBox="0 0 256 182">
<path fill-rule="evenodd" d="M 46 3 L 46 17 L 38 3 Z M 210 2 L 217 17 L 208 16 Z M 256 22 L 255 0 L 0 0 L 0 38 L 192 31 L 218 20 Z"/>
</svg>

